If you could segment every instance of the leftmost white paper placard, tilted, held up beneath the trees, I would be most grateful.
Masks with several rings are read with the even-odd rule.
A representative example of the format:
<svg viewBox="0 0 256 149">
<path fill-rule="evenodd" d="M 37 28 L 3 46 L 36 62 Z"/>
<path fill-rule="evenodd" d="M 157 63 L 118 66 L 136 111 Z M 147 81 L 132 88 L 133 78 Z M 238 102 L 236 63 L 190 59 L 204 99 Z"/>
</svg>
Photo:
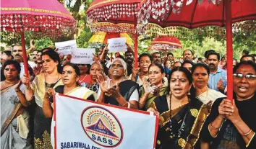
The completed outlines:
<svg viewBox="0 0 256 149">
<path fill-rule="evenodd" d="M 58 49 L 58 53 L 61 53 L 62 55 L 69 55 L 72 53 L 72 50 L 77 48 L 77 42 L 76 40 L 55 42 L 55 48 Z"/>
</svg>

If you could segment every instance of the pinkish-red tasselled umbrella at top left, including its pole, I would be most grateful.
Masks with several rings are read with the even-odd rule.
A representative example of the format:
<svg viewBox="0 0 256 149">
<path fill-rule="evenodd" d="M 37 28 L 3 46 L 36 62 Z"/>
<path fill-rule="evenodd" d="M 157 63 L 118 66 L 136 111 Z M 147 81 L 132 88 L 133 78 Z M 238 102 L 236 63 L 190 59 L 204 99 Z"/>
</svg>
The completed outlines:
<svg viewBox="0 0 256 149">
<path fill-rule="evenodd" d="M 25 73 L 27 56 L 25 50 L 25 31 L 43 32 L 46 35 L 61 35 L 73 32 L 75 19 L 59 1 L 56 0 L 1 0 L 1 31 L 20 32 Z M 51 32 L 51 33 L 49 33 Z"/>
</svg>

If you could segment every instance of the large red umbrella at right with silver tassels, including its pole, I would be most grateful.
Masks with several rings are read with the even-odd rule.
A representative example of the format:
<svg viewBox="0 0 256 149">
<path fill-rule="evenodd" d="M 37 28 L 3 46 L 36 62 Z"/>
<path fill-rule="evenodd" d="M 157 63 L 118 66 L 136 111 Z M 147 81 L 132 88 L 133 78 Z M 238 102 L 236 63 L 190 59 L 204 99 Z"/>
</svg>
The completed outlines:
<svg viewBox="0 0 256 149">
<path fill-rule="evenodd" d="M 217 2 L 217 4 L 215 4 Z M 187 5 L 187 6 L 185 6 Z M 232 23 L 248 19 L 256 19 L 255 0 L 144 0 L 138 13 L 138 27 L 148 22 L 168 26 L 182 26 L 187 28 L 202 27 L 206 25 L 226 26 L 227 60 L 232 61 Z M 227 64 L 229 70 L 228 83 L 233 83 L 233 66 Z M 228 98 L 233 99 L 233 86 L 228 86 Z"/>
</svg>

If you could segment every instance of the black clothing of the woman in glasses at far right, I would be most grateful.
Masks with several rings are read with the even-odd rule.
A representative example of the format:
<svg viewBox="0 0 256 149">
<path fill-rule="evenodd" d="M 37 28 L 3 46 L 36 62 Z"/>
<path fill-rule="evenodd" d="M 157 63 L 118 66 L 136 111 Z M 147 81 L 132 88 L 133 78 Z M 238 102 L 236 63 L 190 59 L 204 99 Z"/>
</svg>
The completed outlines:
<svg viewBox="0 0 256 149">
<path fill-rule="evenodd" d="M 252 129 L 253 132 L 256 132 L 256 94 L 252 97 L 252 99 L 244 101 L 237 101 L 236 96 L 234 96 L 234 98 L 240 117 L 249 126 L 249 128 Z M 210 112 L 210 115 L 206 120 L 205 125 L 202 127 L 200 138 L 205 142 L 212 142 L 210 148 L 214 149 L 221 148 L 222 140 L 228 140 L 231 143 L 237 143 L 237 145 L 239 145 L 239 148 L 245 149 L 246 145 L 244 143 L 244 140 L 242 139 L 241 135 L 239 135 L 236 127 L 231 123 L 229 119 L 225 119 L 223 121 L 223 125 L 221 126 L 217 137 L 214 138 L 210 135 L 208 125 L 210 124 L 210 122 L 213 122 L 216 117 L 218 117 L 218 106 L 219 104 L 221 104 L 221 101 L 223 99 L 225 98 L 216 99 L 216 101 L 214 102 L 212 111 Z M 256 135 L 252 138 L 247 148 L 256 148 Z"/>
</svg>

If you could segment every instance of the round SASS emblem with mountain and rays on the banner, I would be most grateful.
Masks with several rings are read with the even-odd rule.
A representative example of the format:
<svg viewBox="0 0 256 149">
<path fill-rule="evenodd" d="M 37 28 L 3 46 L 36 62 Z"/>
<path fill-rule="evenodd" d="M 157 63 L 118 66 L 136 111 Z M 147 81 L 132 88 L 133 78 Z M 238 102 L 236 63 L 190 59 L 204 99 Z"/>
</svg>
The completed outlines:
<svg viewBox="0 0 256 149">
<path fill-rule="evenodd" d="M 85 134 L 98 145 L 114 148 L 120 145 L 123 139 L 121 124 L 108 109 L 87 107 L 82 112 L 81 122 Z"/>
</svg>

